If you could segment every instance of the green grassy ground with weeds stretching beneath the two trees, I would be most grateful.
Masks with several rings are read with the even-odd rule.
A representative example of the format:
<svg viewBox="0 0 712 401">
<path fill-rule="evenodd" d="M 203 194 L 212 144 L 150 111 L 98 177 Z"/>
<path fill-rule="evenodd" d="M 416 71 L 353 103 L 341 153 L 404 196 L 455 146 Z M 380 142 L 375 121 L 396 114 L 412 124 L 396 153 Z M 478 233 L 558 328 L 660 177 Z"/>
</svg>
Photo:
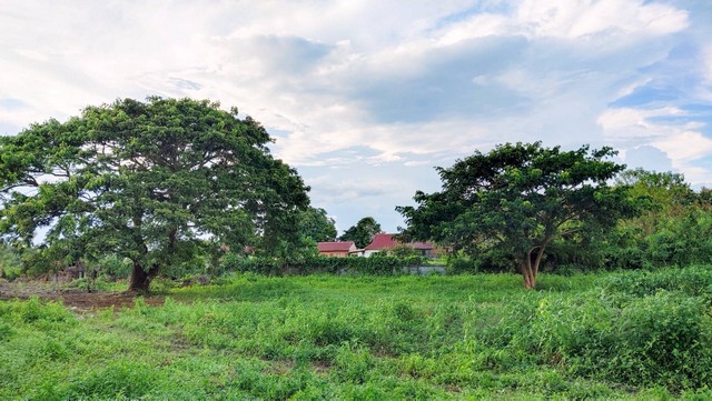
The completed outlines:
<svg viewBox="0 0 712 401">
<path fill-rule="evenodd" d="M 709 285 L 709 287 L 708 287 Z M 710 399 L 712 270 L 264 278 L 0 301 L 0 399 Z"/>
</svg>

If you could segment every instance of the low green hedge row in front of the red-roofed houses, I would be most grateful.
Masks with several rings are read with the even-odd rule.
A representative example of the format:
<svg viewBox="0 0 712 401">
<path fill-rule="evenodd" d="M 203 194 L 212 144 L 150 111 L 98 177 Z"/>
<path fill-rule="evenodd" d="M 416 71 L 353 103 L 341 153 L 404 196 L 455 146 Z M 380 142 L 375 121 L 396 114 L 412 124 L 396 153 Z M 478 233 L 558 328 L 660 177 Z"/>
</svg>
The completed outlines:
<svg viewBox="0 0 712 401">
<path fill-rule="evenodd" d="M 284 261 L 229 254 L 222 261 L 221 271 L 254 272 L 268 275 L 313 273 L 396 275 L 403 274 L 407 268 L 423 263 L 424 258 L 421 257 L 310 257 L 298 261 Z"/>
</svg>

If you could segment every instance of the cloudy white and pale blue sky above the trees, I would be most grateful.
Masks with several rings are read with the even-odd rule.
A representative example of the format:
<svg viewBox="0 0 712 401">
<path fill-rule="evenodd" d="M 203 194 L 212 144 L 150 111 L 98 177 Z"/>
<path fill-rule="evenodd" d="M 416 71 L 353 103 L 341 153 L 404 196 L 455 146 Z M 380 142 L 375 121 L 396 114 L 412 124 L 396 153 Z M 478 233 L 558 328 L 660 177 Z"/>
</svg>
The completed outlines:
<svg viewBox="0 0 712 401">
<path fill-rule="evenodd" d="M 712 187 L 712 1 L 0 2 L 0 134 L 149 96 L 261 122 L 339 232 L 533 142 Z"/>
</svg>

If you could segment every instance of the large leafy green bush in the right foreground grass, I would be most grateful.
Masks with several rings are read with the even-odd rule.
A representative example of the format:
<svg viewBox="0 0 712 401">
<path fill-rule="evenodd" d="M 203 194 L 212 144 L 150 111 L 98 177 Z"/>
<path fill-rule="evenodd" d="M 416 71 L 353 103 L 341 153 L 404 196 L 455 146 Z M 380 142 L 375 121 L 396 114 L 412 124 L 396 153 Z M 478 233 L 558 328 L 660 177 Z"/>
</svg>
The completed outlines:
<svg viewBox="0 0 712 401">
<path fill-rule="evenodd" d="M 710 283 L 712 270 L 689 268 L 617 274 L 574 298 L 527 294 L 504 314 L 513 335 L 501 345 L 575 375 L 703 388 L 712 380 Z"/>
</svg>

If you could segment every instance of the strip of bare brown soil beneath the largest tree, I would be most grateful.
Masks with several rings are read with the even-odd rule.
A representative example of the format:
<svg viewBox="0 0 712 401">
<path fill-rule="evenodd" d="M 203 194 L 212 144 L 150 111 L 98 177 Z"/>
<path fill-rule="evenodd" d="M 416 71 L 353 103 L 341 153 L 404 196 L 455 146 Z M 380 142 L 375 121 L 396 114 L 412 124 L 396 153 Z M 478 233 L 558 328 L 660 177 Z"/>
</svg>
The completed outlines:
<svg viewBox="0 0 712 401">
<path fill-rule="evenodd" d="M 0 300 L 29 299 L 38 297 L 42 300 L 61 301 L 65 305 L 78 310 L 89 311 L 103 308 L 130 308 L 134 305 L 136 293 L 130 292 L 87 292 L 86 290 L 67 290 L 57 285 L 23 282 L 9 283 L 0 280 Z M 149 295 L 144 301 L 150 305 L 164 304 L 164 297 Z"/>
</svg>

